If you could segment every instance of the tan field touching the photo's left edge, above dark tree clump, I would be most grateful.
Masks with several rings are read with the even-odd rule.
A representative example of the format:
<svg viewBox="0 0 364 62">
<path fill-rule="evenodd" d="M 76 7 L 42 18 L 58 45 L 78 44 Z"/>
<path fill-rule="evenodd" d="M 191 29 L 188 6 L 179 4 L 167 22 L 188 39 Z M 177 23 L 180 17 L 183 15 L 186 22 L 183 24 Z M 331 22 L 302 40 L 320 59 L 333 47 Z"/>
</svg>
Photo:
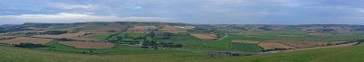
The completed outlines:
<svg viewBox="0 0 364 62">
<path fill-rule="evenodd" d="M 50 41 L 51 40 L 49 40 L 49 39 L 19 37 L 19 38 L 15 38 L 13 40 L 0 40 L 0 43 L 6 43 L 6 44 L 20 44 L 20 43 L 45 44 L 45 43 L 48 43 Z"/>
</svg>

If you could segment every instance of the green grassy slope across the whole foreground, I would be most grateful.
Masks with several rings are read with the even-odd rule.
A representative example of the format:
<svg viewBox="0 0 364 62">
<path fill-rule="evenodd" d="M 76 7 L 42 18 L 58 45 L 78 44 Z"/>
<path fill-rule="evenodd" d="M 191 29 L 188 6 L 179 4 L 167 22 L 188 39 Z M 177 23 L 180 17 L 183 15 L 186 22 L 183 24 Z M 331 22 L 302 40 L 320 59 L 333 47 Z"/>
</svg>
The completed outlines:
<svg viewBox="0 0 364 62">
<path fill-rule="evenodd" d="M 249 57 L 209 57 L 175 51 L 160 54 L 84 55 L 35 49 L 0 47 L 0 62 L 363 62 L 364 45 L 284 52 Z"/>
</svg>

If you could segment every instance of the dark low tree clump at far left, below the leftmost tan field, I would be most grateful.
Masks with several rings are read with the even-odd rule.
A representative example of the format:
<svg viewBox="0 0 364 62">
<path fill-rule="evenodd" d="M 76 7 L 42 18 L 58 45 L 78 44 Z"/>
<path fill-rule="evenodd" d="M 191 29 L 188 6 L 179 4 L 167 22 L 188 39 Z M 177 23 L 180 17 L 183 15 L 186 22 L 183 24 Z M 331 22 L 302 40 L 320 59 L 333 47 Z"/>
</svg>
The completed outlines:
<svg viewBox="0 0 364 62">
<path fill-rule="evenodd" d="M 35 48 L 45 48 L 48 46 L 45 46 L 42 44 L 33 44 L 33 43 L 20 43 L 20 44 L 16 44 L 15 47 L 35 49 Z"/>
</svg>

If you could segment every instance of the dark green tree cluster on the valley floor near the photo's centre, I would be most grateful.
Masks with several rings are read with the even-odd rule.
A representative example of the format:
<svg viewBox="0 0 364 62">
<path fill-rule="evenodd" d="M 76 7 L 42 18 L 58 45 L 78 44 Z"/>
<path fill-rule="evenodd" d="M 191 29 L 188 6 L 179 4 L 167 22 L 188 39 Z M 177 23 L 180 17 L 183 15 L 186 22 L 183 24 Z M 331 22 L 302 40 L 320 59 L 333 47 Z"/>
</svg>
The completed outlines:
<svg viewBox="0 0 364 62">
<path fill-rule="evenodd" d="M 161 48 L 182 48 L 182 44 L 175 44 L 173 42 L 161 42 L 161 41 L 143 41 L 142 44 L 144 47 L 148 48 L 152 47 L 152 49 L 157 49 L 158 47 Z"/>
</svg>

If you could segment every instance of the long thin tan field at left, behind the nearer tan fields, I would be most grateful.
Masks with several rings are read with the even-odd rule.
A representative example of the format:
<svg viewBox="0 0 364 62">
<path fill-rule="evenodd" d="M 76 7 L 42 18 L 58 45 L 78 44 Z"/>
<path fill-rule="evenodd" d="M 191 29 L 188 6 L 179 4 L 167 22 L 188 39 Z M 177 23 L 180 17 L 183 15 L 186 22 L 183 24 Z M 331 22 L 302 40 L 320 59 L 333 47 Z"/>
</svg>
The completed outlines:
<svg viewBox="0 0 364 62">
<path fill-rule="evenodd" d="M 76 32 L 76 33 L 66 33 L 66 34 L 60 34 L 60 35 L 35 35 L 32 37 L 38 37 L 38 38 L 76 38 L 76 37 L 82 37 L 85 36 L 87 32 Z"/>
</svg>

